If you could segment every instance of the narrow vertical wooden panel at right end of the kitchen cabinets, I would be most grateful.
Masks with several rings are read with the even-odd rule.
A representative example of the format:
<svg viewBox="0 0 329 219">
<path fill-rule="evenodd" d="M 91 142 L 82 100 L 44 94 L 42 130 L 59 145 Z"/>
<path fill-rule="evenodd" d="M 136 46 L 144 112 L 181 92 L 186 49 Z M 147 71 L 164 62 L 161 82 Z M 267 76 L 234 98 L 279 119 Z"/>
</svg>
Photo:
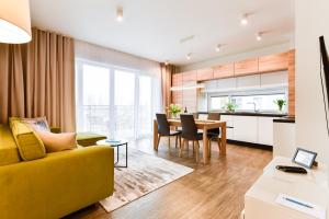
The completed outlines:
<svg viewBox="0 0 329 219">
<path fill-rule="evenodd" d="M 295 49 L 288 51 L 288 115 L 295 116 Z"/>
</svg>

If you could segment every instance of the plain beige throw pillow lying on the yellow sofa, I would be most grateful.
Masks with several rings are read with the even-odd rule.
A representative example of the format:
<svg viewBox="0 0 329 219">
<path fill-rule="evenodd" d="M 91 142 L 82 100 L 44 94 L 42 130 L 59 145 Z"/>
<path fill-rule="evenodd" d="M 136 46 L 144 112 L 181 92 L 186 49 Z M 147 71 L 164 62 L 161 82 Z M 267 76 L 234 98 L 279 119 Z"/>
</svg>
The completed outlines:
<svg viewBox="0 0 329 219">
<path fill-rule="evenodd" d="M 77 148 L 77 135 L 75 132 L 53 134 L 39 129 L 35 129 L 35 132 L 44 142 L 47 153 Z"/>
</svg>

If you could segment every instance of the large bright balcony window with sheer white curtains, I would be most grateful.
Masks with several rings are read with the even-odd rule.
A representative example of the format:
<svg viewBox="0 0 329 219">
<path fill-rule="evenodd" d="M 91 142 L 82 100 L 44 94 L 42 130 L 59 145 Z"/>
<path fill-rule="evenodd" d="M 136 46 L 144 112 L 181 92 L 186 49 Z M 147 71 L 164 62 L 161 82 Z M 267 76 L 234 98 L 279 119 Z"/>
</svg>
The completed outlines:
<svg viewBox="0 0 329 219">
<path fill-rule="evenodd" d="M 157 80 L 148 74 L 77 60 L 77 129 L 109 138 L 151 135 Z M 160 99 L 160 93 L 157 93 Z"/>
</svg>

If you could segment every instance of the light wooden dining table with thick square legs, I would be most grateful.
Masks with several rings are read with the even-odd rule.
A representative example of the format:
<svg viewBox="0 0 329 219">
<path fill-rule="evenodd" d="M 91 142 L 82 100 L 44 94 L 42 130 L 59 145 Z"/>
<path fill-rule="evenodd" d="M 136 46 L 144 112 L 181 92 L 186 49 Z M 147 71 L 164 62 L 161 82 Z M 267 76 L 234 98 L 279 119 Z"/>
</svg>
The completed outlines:
<svg viewBox="0 0 329 219">
<path fill-rule="evenodd" d="M 179 118 L 168 119 L 169 126 L 171 127 L 182 127 L 182 123 Z M 195 119 L 196 128 L 203 130 L 203 162 L 208 164 L 208 137 L 207 132 L 213 128 L 220 128 L 220 145 L 219 154 L 226 155 L 226 122 L 222 120 L 207 120 L 207 119 Z M 219 142 L 218 142 L 219 143 Z M 157 119 L 154 120 L 154 149 L 158 151 L 158 123 Z"/>
</svg>

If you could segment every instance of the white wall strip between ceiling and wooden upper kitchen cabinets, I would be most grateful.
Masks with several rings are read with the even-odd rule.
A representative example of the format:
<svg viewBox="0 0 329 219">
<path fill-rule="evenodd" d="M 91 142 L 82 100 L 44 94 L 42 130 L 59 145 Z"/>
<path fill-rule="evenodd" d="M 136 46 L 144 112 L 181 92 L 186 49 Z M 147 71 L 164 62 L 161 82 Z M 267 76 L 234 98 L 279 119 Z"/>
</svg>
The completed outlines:
<svg viewBox="0 0 329 219">
<path fill-rule="evenodd" d="M 258 56 L 279 54 L 279 53 L 287 51 L 293 48 L 294 48 L 294 42 L 293 41 L 286 42 L 286 43 L 272 45 L 272 46 L 268 46 L 268 47 L 260 48 L 260 49 L 248 50 L 248 51 L 235 54 L 235 55 L 220 56 L 218 58 L 214 58 L 214 59 L 209 59 L 209 60 L 205 60 L 205 61 L 201 61 L 201 62 L 196 62 L 196 64 L 191 64 L 191 65 L 186 65 L 186 66 L 181 66 L 180 71 L 195 70 L 195 69 L 201 69 L 201 68 L 206 68 L 206 67 L 213 67 L 213 66 L 220 65 L 220 64 L 228 64 L 228 62 L 232 62 L 232 61 L 253 58 L 253 57 L 258 57 Z"/>
</svg>

